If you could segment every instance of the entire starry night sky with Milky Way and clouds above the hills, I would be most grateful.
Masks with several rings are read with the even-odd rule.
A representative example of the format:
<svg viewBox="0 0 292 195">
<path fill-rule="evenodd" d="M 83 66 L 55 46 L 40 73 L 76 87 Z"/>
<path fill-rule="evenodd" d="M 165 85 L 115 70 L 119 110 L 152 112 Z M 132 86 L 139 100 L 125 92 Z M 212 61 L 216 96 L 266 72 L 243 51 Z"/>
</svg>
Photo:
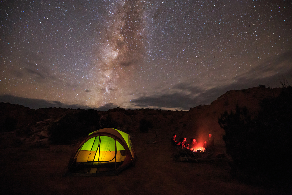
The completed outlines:
<svg viewBox="0 0 292 195">
<path fill-rule="evenodd" d="M 0 102 L 189 110 L 292 84 L 291 0 L 0 2 Z"/>
</svg>

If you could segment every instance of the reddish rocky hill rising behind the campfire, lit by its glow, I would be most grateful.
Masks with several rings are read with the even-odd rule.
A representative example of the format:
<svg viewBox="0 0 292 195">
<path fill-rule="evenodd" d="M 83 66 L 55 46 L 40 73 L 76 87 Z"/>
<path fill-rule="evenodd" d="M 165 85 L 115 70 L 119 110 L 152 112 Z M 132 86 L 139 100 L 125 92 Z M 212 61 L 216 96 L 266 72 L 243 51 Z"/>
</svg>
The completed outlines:
<svg viewBox="0 0 292 195">
<path fill-rule="evenodd" d="M 210 105 L 197 106 L 191 108 L 188 112 L 189 134 L 184 134 L 192 137 L 194 134 L 197 139 L 203 141 L 208 139 L 208 134 L 211 133 L 215 138 L 215 143 L 224 144 L 222 136 L 224 130 L 218 124 L 218 118 L 225 110 L 235 111 L 236 105 L 239 107 L 246 106 L 252 116 L 256 115 L 260 109 L 260 101 L 265 98 L 279 96 L 281 88 L 263 88 L 253 87 L 250 89 L 232 90 L 221 95 Z"/>
</svg>

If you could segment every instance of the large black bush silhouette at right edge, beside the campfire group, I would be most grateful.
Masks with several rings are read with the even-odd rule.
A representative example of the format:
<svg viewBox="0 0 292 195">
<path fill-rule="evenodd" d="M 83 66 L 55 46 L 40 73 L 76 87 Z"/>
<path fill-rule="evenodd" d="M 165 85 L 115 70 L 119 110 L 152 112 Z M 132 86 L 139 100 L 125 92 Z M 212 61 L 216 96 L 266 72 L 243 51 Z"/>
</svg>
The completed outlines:
<svg viewBox="0 0 292 195">
<path fill-rule="evenodd" d="M 286 180 L 292 168 L 292 87 L 283 87 L 277 98 L 264 99 L 261 110 L 251 119 L 246 108 L 236 107 L 218 118 L 225 130 L 223 140 L 234 161 L 235 171 L 250 178 Z"/>
</svg>

